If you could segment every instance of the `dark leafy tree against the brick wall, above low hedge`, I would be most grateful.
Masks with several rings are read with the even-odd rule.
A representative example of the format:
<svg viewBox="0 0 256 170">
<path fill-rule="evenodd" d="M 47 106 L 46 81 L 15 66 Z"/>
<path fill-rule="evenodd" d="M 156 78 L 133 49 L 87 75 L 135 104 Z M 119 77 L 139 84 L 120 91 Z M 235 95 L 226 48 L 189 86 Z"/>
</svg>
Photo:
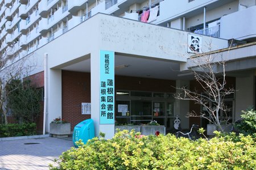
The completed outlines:
<svg viewBox="0 0 256 170">
<path fill-rule="evenodd" d="M 42 89 L 36 88 L 36 84 L 33 84 L 30 78 L 23 81 L 15 78 L 10 81 L 7 91 L 13 91 L 9 94 L 7 102 L 11 116 L 16 121 L 36 123 L 42 110 Z"/>
</svg>

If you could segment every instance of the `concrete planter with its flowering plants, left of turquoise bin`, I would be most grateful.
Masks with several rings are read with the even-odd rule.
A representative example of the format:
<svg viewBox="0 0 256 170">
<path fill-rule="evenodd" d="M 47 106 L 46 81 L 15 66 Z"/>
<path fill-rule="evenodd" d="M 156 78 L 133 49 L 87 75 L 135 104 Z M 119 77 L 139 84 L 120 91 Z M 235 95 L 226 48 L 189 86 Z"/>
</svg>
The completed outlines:
<svg viewBox="0 0 256 170">
<path fill-rule="evenodd" d="M 55 118 L 50 124 L 50 134 L 56 138 L 67 138 L 71 134 L 71 124 L 62 118 Z"/>
</svg>

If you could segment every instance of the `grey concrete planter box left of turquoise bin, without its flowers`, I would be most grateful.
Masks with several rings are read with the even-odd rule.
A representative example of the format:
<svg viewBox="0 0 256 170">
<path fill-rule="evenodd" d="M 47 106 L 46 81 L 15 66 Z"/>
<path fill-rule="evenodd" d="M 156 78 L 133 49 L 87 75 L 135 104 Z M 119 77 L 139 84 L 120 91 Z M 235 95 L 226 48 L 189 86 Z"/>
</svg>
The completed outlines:
<svg viewBox="0 0 256 170">
<path fill-rule="evenodd" d="M 53 137 L 68 137 L 71 134 L 71 124 L 50 124 L 50 134 Z"/>
</svg>

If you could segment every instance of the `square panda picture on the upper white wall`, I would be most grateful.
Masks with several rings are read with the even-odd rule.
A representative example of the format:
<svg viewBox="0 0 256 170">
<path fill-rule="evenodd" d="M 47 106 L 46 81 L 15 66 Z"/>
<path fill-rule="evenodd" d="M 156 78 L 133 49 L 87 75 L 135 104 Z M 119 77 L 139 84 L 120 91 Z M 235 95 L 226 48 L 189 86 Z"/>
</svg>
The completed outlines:
<svg viewBox="0 0 256 170">
<path fill-rule="evenodd" d="M 202 36 L 188 34 L 188 52 L 201 53 Z"/>
</svg>

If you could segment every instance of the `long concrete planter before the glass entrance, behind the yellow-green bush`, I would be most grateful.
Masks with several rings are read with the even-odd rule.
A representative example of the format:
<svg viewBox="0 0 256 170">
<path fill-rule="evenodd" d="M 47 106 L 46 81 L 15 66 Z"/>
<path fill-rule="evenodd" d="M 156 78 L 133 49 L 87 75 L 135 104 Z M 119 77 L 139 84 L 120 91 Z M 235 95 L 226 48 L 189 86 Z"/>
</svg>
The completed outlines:
<svg viewBox="0 0 256 170">
<path fill-rule="evenodd" d="M 135 133 L 141 132 L 142 135 L 154 135 L 155 131 L 159 131 L 161 134 L 164 134 L 164 126 L 115 126 L 115 129 L 129 130 L 129 132 L 134 129 Z M 117 130 L 115 130 L 117 133 Z"/>
</svg>

